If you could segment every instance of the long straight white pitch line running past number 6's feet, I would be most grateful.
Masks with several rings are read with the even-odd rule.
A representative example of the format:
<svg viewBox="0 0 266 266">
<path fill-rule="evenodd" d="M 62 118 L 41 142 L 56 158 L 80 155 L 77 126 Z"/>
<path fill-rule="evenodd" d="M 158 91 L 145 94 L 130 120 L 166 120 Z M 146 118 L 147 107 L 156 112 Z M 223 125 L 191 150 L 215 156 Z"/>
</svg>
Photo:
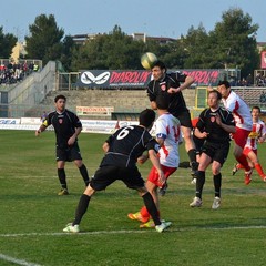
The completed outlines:
<svg viewBox="0 0 266 266">
<path fill-rule="evenodd" d="M 252 226 L 226 226 L 226 227 L 190 227 L 190 228 L 168 228 L 167 232 L 188 232 L 188 231 L 229 231 L 229 229 L 265 229 L 265 225 L 252 225 Z M 93 232 L 80 232 L 80 233 L 25 233 L 25 234 L 0 234 L 0 237 L 23 237 L 23 236 L 62 236 L 62 235 L 75 235 L 75 236 L 84 236 L 84 235 L 112 235 L 112 234 L 144 234 L 151 233 L 155 231 L 151 229 L 135 229 L 135 231 L 93 231 Z"/>
</svg>

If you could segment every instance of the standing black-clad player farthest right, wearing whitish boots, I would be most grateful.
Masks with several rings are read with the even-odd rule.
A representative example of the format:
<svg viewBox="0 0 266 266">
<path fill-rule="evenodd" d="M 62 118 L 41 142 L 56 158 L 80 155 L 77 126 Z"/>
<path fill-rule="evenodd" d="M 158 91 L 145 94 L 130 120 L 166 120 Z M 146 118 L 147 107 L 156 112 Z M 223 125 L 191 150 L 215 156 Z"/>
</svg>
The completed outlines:
<svg viewBox="0 0 266 266">
<path fill-rule="evenodd" d="M 213 209 L 221 206 L 221 168 L 229 152 L 231 133 L 235 133 L 233 114 L 219 106 L 222 94 L 218 91 L 208 92 L 208 109 L 205 109 L 196 124 L 195 135 L 205 139 L 202 146 L 200 165 L 196 178 L 196 196 L 190 204 L 191 207 L 202 206 L 202 192 L 205 183 L 205 171 L 212 164 L 215 197 Z"/>
</svg>

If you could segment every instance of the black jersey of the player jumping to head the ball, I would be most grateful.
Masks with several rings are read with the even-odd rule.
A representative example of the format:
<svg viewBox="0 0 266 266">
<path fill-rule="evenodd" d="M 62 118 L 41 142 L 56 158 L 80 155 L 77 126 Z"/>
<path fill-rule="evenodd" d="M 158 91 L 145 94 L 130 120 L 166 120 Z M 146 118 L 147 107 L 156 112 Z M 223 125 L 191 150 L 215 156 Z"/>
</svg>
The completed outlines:
<svg viewBox="0 0 266 266">
<path fill-rule="evenodd" d="M 181 82 L 184 82 L 185 79 L 185 74 L 182 74 L 181 72 L 173 72 L 165 74 L 162 80 L 152 80 L 147 84 L 147 96 L 150 101 L 156 101 L 156 96 L 167 93 L 170 88 L 178 88 Z M 178 117 L 178 113 L 184 111 L 187 111 L 187 108 L 182 92 L 171 93 L 168 112 Z"/>
</svg>

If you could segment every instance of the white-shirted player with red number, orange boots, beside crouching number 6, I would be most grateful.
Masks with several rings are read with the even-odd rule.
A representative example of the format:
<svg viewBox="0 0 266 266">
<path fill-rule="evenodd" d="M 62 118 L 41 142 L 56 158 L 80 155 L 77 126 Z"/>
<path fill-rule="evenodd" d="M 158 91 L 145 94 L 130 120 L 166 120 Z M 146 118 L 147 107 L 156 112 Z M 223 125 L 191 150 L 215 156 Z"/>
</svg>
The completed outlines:
<svg viewBox="0 0 266 266">
<path fill-rule="evenodd" d="M 155 136 L 161 146 L 158 150 L 158 158 L 166 180 L 178 167 L 178 144 L 182 137 L 180 121 L 167 111 L 168 103 L 170 101 L 167 94 L 158 95 L 156 98 L 158 117 L 155 122 Z M 146 158 L 147 156 L 143 158 L 142 163 L 144 163 Z M 151 193 L 157 209 L 160 209 L 157 188 L 162 187 L 162 185 L 163 184 L 160 182 L 158 173 L 153 166 L 147 176 L 146 187 Z M 145 206 L 143 206 L 140 212 L 130 213 L 127 216 L 131 219 L 137 219 L 142 222 L 143 224 L 141 224 L 140 227 L 155 226 L 154 222 L 150 219 L 150 213 Z"/>
</svg>

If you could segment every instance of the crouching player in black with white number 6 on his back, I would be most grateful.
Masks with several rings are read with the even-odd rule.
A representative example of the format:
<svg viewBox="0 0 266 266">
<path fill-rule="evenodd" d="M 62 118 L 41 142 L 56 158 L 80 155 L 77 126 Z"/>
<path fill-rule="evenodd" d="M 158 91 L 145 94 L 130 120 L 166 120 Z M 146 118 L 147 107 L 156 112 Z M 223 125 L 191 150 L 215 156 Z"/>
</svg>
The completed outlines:
<svg viewBox="0 0 266 266">
<path fill-rule="evenodd" d="M 163 170 L 156 156 L 160 149 L 158 143 L 149 133 L 154 120 L 154 111 L 146 109 L 140 114 L 140 125 L 121 127 L 105 141 L 103 144 L 105 156 L 80 198 L 73 223 L 68 224 L 63 232 L 79 233 L 79 224 L 88 209 L 92 195 L 96 191 L 105 190 L 116 180 L 123 181 L 129 188 L 140 193 L 157 232 L 161 233 L 171 225 L 170 222 L 160 221 L 153 197 L 147 192 L 144 180 L 136 167 L 137 157 L 147 151 L 151 162 L 158 172 L 160 182 L 162 184 L 165 182 Z"/>
</svg>

